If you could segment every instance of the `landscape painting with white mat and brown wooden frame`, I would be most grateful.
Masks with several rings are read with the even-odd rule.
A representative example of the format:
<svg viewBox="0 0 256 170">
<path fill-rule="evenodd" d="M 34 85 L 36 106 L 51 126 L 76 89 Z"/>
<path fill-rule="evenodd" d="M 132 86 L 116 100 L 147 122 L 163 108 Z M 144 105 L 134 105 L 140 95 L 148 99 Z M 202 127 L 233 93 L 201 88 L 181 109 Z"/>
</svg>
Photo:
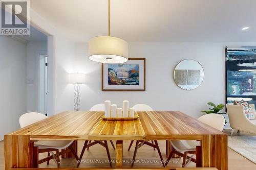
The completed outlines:
<svg viewBox="0 0 256 170">
<path fill-rule="evenodd" d="M 145 91 L 146 59 L 129 58 L 122 64 L 102 63 L 102 91 Z"/>
</svg>

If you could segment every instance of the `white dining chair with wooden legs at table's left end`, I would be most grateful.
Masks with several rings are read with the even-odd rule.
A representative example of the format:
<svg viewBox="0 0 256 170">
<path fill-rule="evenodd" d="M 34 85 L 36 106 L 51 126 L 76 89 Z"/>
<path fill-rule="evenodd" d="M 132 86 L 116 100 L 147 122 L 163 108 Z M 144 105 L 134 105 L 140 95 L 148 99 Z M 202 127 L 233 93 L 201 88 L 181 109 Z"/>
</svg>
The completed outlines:
<svg viewBox="0 0 256 170">
<path fill-rule="evenodd" d="M 37 113 L 37 112 L 29 112 L 21 115 L 19 117 L 19 126 L 20 128 L 24 128 L 26 126 L 29 126 L 31 124 L 34 124 L 36 122 L 39 122 L 41 120 L 44 120 L 48 118 L 46 115 Z M 60 160 L 59 156 L 71 151 L 75 158 L 79 160 L 74 148 L 72 147 L 73 140 L 38 140 L 34 142 L 34 153 L 37 153 L 36 155 L 33 155 L 33 159 L 37 162 L 34 166 L 38 167 L 38 164 L 46 162 L 49 164 L 50 159 L 54 159 L 54 161 L 57 164 L 57 167 L 60 167 Z M 66 149 L 68 148 L 68 149 Z M 65 149 L 63 152 L 59 152 L 59 150 Z M 56 152 L 54 154 L 53 152 Z M 48 152 L 48 157 L 38 160 L 39 153 Z M 34 162 L 35 162 L 34 161 Z"/>
</svg>

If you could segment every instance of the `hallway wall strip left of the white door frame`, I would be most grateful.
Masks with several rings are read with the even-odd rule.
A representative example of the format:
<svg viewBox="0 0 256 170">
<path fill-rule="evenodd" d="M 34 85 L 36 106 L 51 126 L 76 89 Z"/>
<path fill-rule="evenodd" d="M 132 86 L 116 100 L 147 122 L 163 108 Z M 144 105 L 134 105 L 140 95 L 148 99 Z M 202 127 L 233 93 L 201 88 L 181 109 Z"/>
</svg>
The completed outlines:
<svg viewBox="0 0 256 170">
<path fill-rule="evenodd" d="M 39 55 L 47 55 L 46 41 L 27 44 L 27 112 L 39 112 Z"/>
</svg>

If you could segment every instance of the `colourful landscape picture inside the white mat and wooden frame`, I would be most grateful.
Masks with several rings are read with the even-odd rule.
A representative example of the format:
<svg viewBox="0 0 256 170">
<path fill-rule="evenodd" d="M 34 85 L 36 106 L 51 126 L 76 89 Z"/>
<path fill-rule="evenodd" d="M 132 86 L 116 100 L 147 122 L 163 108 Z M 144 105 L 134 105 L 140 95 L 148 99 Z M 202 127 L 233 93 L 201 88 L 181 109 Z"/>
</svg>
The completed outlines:
<svg viewBox="0 0 256 170">
<path fill-rule="evenodd" d="M 139 85 L 140 65 L 139 64 L 109 64 L 108 65 L 109 85 Z"/>
</svg>

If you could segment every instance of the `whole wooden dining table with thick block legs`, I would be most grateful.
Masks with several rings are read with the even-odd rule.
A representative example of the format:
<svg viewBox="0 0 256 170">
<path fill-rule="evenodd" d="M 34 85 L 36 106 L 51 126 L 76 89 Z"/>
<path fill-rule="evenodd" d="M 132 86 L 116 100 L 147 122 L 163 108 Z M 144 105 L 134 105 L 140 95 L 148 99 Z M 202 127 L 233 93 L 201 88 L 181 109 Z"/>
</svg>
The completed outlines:
<svg viewBox="0 0 256 170">
<path fill-rule="evenodd" d="M 34 167 L 33 143 L 38 140 L 115 140 L 116 168 L 123 164 L 124 140 L 198 140 L 196 166 L 227 170 L 227 134 L 181 111 L 135 114 L 135 120 L 103 120 L 104 111 L 65 111 L 6 134 L 5 169 Z"/>
</svg>

